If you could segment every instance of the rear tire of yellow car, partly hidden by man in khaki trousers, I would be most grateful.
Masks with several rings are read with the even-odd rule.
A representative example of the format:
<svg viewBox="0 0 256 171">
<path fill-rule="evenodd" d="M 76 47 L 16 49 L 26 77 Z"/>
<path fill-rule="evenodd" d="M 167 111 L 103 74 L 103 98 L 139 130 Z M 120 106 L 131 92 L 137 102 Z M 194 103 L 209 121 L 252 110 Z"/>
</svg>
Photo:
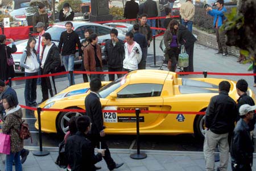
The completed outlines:
<svg viewBox="0 0 256 171">
<path fill-rule="evenodd" d="M 196 139 L 202 140 L 204 139 L 204 118 L 205 115 L 197 115 L 194 122 L 194 134 Z"/>
</svg>

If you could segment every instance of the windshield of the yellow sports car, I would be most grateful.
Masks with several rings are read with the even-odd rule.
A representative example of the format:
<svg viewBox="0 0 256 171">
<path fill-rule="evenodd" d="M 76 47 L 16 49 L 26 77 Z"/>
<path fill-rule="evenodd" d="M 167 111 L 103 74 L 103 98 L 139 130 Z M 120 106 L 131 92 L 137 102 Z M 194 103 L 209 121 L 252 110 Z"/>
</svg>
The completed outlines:
<svg viewBox="0 0 256 171">
<path fill-rule="evenodd" d="M 108 85 L 105 85 L 104 87 L 102 87 L 100 89 L 100 91 L 98 92 L 98 94 L 100 94 L 101 98 L 106 98 L 110 93 L 112 93 L 113 91 L 118 89 L 121 86 L 122 78 L 123 77 L 118 78 L 117 80 L 112 81 Z"/>
</svg>

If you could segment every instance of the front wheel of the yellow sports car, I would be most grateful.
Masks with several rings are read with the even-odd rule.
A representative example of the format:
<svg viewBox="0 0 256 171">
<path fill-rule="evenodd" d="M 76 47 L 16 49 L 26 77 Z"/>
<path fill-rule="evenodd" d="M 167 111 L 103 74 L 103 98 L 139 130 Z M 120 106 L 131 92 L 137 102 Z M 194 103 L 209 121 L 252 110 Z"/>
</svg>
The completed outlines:
<svg viewBox="0 0 256 171">
<path fill-rule="evenodd" d="M 79 107 L 72 107 L 69 109 L 80 109 Z M 82 116 L 85 115 L 85 113 L 82 112 L 60 112 L 59 116 L 56 120 L 56 129 L 57 133 L 60 135 L 65 135 L 65 133 L 68 131 L 68 121 L 72 116 Z"/>
</svg>

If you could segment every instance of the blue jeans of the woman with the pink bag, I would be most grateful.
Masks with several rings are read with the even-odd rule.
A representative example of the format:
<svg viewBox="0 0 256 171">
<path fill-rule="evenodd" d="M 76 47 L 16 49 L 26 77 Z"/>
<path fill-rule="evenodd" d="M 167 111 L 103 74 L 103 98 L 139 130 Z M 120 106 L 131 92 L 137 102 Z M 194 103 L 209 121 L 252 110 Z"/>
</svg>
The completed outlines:
<svg viewBox="0 0 256 171">
<path fill-rule="evenodd" d="M 20 152 L 10 153 L 5 158 L 5 170 L 13 171 L 13 161 L 15 162 L 15 171 L 22 171 L 22 164 L 20 162 Z"/>
</svg>

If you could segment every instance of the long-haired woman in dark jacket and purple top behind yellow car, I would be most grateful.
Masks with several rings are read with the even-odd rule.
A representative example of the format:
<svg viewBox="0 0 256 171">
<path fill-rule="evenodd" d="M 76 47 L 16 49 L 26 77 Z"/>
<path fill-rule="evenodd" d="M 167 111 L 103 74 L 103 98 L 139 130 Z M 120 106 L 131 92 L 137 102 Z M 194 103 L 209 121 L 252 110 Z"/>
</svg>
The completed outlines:
<svg viewBox="0 0 256 171">
<path fill-rule="evenodd" d="M 164 31 L 164 45 L 166 46 L 168 60 L 168 69 L 175 72 L 177 61 L 179 59 L 179 43 L 177 41 L 177 30 L 179 22 L 175 19 L 171 20 L 166 31 Z"/>
</svg>

